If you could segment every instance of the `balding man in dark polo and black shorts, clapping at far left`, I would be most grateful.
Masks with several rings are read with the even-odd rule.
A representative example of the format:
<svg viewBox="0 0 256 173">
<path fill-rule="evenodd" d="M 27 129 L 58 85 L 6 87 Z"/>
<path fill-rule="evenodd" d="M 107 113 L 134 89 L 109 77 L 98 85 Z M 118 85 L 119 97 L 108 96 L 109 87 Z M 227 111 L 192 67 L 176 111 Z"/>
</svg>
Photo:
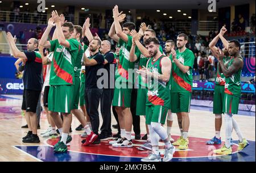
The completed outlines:
<svg viewBox="0 0 256 173">
<path fill-rule="evenodd" d="M 36 116 L 36 106 L 42 90 L 42 56 L 38 52 L 38 40 L 32 38 L 27 42 L 27 51 L 20 52 L 15 45 L 15 39 L 10 32 L 7 32 L 7 40 L 15 58 L 22 58 L 26 61 L 23 73 L 23 102 L 22 110 L 26 111 L 26 121 L 28 124 L 27 136 L 22 142 L 39 143 L 38 121 Z"/>
</svg>

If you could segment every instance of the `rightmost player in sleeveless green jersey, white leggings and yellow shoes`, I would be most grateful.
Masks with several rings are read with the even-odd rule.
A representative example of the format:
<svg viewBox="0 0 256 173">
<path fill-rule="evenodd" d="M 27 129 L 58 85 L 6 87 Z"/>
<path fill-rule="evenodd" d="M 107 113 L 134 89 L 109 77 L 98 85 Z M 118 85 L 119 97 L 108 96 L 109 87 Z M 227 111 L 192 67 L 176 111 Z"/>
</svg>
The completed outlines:
<svg viewBox="0 0 256 173">
<path fill-rule="evenodd" d="M 236 120 L 233 118 L 233 115 L 237 114 L 238 112 L 239 100 L 241 96 L 241 71 L 243 68 L 243 58 L 240 54 L 240 43 L 237 40 L 229 41 L 228 52 L 232 58 L 230 58 L 228 63 L 225 65 L 223 61 L 224 52 L 217 49 L 220 73 L 225 75 L 225 95 L 222 111 L 224 112 L 225 116 L 226 139 L 225 145 L 221 147 L 221 149 L 213 150 L 213 153 L 216 154 L 232 154 L 231 136 L 233 128 L 236 130 L 239 138 L 237 151 L 241 151 L 249 145 L 249 142 L 243 138 L 242 132 Z"/>
</svg>

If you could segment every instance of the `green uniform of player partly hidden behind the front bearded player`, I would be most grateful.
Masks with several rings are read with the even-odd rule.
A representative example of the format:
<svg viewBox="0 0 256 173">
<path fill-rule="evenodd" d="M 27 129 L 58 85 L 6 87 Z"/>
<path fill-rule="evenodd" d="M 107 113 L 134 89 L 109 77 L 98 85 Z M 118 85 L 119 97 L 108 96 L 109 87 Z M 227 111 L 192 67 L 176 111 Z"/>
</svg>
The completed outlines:
<svg viewBox="0 0 256 173">
<path fill-rule="evenodd" d="M 163 53 L 161 45 L 159 45 L 159 50 Z M 145 57 L 139 49 L 135 54 L 138 57 L 137 61 L 139 61 L 139 69 L 142 69 L 143 66 L 146 67 L 149 58 Z M 141 75 L 138 75 L 138 85 L 136 115 L 146 115 L 147 88 L 146 83 L 142 81 Z"/>
</svg>

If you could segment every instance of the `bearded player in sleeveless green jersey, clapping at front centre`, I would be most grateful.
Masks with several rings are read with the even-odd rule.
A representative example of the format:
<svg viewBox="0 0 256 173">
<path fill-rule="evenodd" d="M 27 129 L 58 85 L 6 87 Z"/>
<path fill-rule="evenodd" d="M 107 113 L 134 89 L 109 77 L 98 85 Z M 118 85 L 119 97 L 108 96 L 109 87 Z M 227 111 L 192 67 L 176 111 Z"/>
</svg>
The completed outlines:
<svg viewBox="0 0 256 173">
<path fill-rule="evenodd" d="M 164 141 L 164 162 L 172 159 L 175 147 L 171 144 L 166 130 L 161 124 L 166 121 L 168 107 L 170 107 L 170 74 L 171 60 L 164 56 L 159 50 L 159 41 L 156 37 L 150 37 L 144 44 L 150 53 L 150 60 L 147 68 L 138 70 L 142 78 L 146 78 L 147 83 L 147 103 L 146 103 L 146 124 L 150 131 L 152 153 L 147 158 L 141 159 L 142 162 L 160 162 L 159 138 Z M 148 80 L 149 79 L 149 80 Z"/>
</svg>

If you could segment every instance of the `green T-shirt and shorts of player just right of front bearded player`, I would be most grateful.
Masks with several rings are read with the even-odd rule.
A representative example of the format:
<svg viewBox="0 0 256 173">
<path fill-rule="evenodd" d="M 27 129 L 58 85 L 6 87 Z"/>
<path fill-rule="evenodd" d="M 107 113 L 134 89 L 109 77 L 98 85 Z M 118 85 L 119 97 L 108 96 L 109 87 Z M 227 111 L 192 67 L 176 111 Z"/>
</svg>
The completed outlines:
<svg viewBox="0 0 256 173">
<path fill-rule="evenodd" d="M 184 66 L 189 66 L 189 70 L 187 73 L 183 73 L 172 61 L 171 111 L 172 113 L 189 112 L 193 86 L 192 68 L 195 56 L 191 50 L 186 48 L 181 53 L 179 49 L 176 50 L 176 58 Z"/>
</svg>

